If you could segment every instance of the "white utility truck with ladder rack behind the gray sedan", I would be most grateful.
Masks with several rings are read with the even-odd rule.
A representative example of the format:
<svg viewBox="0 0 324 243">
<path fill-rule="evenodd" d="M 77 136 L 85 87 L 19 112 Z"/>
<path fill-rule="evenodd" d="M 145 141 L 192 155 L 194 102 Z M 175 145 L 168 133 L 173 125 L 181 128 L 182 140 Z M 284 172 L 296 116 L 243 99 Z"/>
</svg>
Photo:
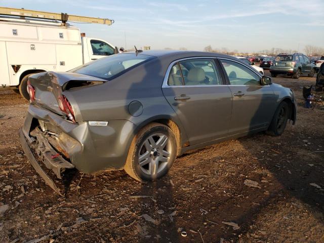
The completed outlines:
<svg viewBox="0 0 324 243">
<path fill-rule="evenodd" d="M 80 30 L 67 21 L 113 23 L 109 19 L 0 7 L 0 85 L 18 88 L 29 100 L 29 75 L 68 71 L 117 52 L 102 39 L 81 36 Z"/>
</svg>

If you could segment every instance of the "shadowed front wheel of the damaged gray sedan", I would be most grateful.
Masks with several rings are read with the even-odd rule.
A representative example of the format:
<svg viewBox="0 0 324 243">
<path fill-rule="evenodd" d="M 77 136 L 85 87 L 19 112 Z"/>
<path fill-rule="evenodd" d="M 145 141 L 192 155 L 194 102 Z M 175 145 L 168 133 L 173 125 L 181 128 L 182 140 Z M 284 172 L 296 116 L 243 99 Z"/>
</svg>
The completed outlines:
<svg viewBox="0 0 324 243">
<path fill-rule="evenodd" d="M 281 102 L 273 115 L 271 124 L 266 133 L 271 136 L 280 136 L 284 133 L 290 112 L 291 110 L 288 103 L 285 101 Z"/>
</svg>

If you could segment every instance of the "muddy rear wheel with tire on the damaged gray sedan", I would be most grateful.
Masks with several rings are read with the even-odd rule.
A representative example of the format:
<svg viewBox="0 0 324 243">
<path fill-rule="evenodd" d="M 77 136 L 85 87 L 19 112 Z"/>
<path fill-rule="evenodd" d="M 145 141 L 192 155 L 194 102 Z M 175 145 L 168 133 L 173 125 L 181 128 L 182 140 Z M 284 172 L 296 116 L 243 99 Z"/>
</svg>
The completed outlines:
<svg viewBox="0 0 324 243">
<path fill-rule="evenodd" d="M 141 129 L 130 146 L 124 170 L 138 181 L 163 177 L 177 156 L 177 142 L 172 130 L 159 123 Z"/>
</svg>

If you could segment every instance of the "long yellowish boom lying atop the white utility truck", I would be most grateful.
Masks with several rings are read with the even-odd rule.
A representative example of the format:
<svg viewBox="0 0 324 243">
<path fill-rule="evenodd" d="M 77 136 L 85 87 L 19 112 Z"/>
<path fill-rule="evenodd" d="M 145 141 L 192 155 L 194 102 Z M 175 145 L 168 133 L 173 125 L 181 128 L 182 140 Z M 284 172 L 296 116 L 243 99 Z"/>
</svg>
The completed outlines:
<svg viewBox="0 0 324 243">
<path fill-rule="evenodd" d="M 21 17 L 37 18 L 37 19 L 61 20 L 63 23 L 66 23 L 66 21 L 107 24 L 107 25 L 111 25 L 112 23 L 114 23 L 114 21 L 111 19 L 93 18 L 93 17 L 86 17 L 86 16 L 68 15 L 66 13 L 58 14 L 58 13 L 42 12 L 42 11 L 27 10 L 27 9 L 5 8 L 5 7 L 0 7 L 0 15 L 21 16 Z"/>
</svg>

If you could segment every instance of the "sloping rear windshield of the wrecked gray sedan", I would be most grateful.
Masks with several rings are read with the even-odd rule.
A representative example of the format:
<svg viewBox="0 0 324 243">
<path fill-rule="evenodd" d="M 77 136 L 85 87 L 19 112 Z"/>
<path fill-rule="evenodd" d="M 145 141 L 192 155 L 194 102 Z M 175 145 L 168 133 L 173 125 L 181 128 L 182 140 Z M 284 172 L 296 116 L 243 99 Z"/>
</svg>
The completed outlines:
<svg viewBox="0 0 324 243">
<path fill-rule="evenodd" d="M 141 54 L 136 55 L 133 53 L 116 54 L 93 62 L 88 62 L 82 66 L 72 69 L 71 72 L 111 80 L 114 77 L 125 73 L 132 67 L 138 66 L 152 58 L 154 57 Z"/>
</svg>

